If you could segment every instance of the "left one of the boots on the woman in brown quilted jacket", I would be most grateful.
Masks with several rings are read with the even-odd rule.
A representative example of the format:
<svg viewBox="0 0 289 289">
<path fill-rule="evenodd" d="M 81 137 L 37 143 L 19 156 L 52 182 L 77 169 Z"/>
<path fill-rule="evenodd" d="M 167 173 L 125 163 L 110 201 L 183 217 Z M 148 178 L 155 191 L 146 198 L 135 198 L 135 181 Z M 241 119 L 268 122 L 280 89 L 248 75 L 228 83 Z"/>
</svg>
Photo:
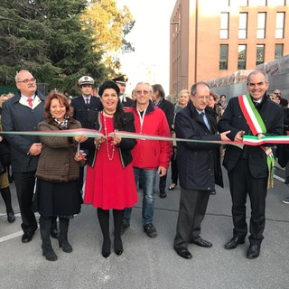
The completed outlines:
<svg viewBox="0 0 289 289">
<path fill-rule="evenodd" d="M 48 261 L 56 261 L 57 256 L 51 247 L 51 218 L 40 217 L 40 233 L 42 237 L 42 255 Z"/>
</svg>

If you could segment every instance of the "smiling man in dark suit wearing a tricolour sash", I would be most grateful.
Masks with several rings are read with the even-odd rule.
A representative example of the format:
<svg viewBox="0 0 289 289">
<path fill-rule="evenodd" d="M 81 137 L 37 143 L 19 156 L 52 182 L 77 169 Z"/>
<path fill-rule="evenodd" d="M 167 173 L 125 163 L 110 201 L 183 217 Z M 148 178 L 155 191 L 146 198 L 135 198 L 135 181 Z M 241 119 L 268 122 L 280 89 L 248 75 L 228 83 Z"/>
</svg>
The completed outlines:
<svg viewBox="0 0 289 289">
<path fill-rule="evenodd" d="M 264 123 L 266 131 L 257 131 L 255 126 L 248 126 L 247 108 L 242 105 L 240 96 L 231 98 L 228 106 L 219 120 L 219 132 L 230 130 L 228 137 L 232 141 L 242 141 L 243 135 L 256 135 L 258 138 L 264 135 L 283 134 L 283 109 L 273 102 L 267 95 L 269 88 L 268 76 L 264 71 L 256 70 L 247 77 L 248 101 Z M 252 108 L 251 120 L 256 113 Z M 257 117 L 256 117 L 257 119 Z M 262 126 L 261 126 L 262 127 Z M 265 130 L 265 129 L 263 129 Z M 247 250 L 247 258 L 259 256 L 263 232 L 265 229 L 266 191 L 268 181 L 268 165 L 266 162 L 265 147 L 244 145 L 243 149 L 235 145 L 226 145 L 224 167 L 228 171 L 229 188 L 232 198 L 233 238 L 225 245 L 226 249 L 233 249 L 239 244 L 245 243 L 247 236 L 246 200 L 247 194 L 251 203 L 251 218 L 249 226 L 250 246 Z"/>
</svg>

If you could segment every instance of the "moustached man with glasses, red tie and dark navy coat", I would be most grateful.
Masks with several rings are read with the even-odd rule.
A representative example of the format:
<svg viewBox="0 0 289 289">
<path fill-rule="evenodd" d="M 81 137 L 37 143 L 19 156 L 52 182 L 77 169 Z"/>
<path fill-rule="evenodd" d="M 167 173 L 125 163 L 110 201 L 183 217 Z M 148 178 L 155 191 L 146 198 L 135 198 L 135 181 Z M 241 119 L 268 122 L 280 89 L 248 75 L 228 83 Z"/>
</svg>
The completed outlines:
<svg viewBox="0 0 289 289">
<path fill-rule="evenodd" d="M 11 148 L 12 171 L 23 221 L 22 241 L 27 243 L 33 239 L 37 229 L 32 204 L 34 174 L 42 144 L 38 136 L 17 135 L 17 132 L 37 130 L 43 119 L 44 97 L 37 92 L 36 79 L 29 71 L 19 71 L 15 81 L 19 92 L 3 104 L 2 126 L 4 131 L 15 132 L 15 135 L 5 135 L 5 138 Z"/>
</svg>

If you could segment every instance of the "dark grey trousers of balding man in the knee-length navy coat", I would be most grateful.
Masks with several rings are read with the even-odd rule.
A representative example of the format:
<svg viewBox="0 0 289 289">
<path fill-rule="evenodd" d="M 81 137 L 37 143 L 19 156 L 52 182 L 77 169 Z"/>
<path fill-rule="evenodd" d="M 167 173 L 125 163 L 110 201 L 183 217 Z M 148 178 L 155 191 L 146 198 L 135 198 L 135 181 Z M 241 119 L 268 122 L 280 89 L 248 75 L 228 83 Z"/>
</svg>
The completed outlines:
<svg viewBox="0 0 289 289">
<path fill-rule="evenodd" d="M 210 191 L 195 191 L 181 188 L 180 210 L 173 247 L 188 247 L 200 238 L 200 223 L 210 198 Z"/>
</svg>

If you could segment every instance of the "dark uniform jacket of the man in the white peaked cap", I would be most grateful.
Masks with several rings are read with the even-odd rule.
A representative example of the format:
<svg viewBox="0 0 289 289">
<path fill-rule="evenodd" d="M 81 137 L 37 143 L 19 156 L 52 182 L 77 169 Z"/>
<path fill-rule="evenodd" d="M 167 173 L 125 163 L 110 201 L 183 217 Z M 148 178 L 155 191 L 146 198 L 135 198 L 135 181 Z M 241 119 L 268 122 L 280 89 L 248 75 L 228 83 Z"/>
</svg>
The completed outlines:
<svg viewBox="0 0 289 289">
<path fill-rule="evenodd" d="M 89 107 L 87 107 L 82 96 L 73 98 L 70 105 L 73 107 L 73 118 L 78 120 L 84 128 L 89 128 L 86 126 L 89 114 L 96 114 L 97 111 L 102 110 L 100 98 L 93 96 L 90 97 Z"/>
</svg>

